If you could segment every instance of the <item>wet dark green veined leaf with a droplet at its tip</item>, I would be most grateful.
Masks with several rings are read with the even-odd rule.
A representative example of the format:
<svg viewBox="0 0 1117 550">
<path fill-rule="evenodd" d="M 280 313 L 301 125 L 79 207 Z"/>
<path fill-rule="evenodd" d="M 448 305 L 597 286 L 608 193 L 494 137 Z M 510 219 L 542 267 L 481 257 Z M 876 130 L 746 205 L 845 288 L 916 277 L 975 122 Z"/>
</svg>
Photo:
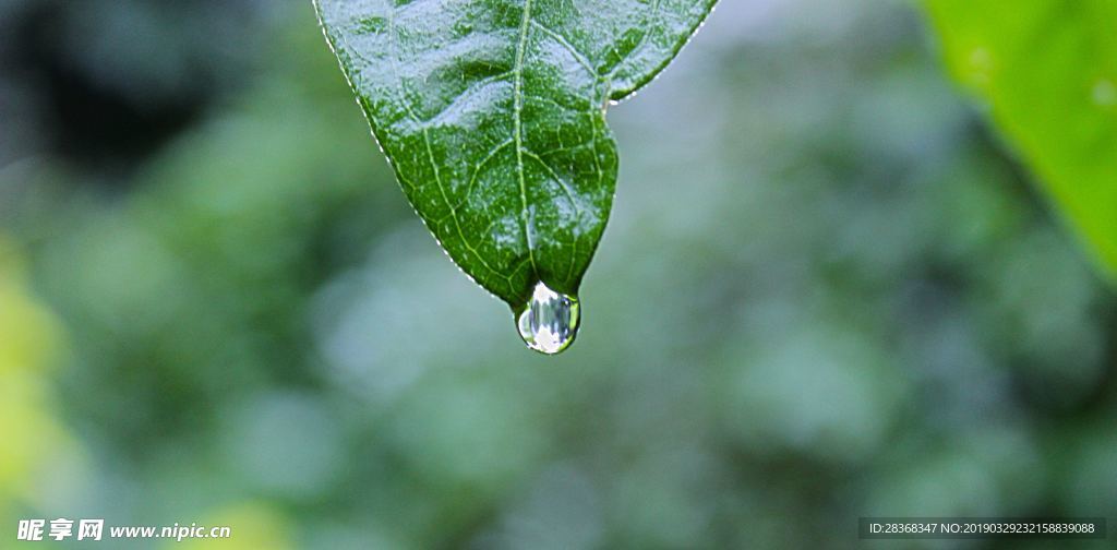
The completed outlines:
<svg viewBox="0 0 1117 550">
<path fill-rule="evenodd" d="M 408 199 L 467 275 L 521 310 L 576 295 L 609 218 L 605 107 L 715 0 L 316 0 Z"/>
</svg>

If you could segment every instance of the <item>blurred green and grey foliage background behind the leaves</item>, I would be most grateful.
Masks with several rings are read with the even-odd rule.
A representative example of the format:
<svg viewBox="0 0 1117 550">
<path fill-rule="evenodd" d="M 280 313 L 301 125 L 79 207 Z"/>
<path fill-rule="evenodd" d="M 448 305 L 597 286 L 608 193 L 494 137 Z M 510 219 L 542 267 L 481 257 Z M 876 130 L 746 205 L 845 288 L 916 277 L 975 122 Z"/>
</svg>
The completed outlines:
<svg viewBox="0 0 1117 550">
<path fill-rule="evenodd" d="M 1117 300 L 915 6 L 726 0 L 609 117 L 546 358 L 416 219 L 308 1 L 0 2 L 0 547 L 57 516 L 321 549 L 1117 528 Z"/>
</svg>

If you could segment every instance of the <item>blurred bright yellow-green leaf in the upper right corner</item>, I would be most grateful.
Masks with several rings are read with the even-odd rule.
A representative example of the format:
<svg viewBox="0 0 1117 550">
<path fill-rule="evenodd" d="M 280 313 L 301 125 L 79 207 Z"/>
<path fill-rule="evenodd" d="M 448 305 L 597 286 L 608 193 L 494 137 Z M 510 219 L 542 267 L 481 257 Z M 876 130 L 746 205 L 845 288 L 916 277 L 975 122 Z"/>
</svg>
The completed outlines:
<svg viewBox="0 0 1117 550">
<path fill-rule="evenodd" d="M 951 73 L 1117 281 L 1117 2 L 926 6 Z"/>
</svg>

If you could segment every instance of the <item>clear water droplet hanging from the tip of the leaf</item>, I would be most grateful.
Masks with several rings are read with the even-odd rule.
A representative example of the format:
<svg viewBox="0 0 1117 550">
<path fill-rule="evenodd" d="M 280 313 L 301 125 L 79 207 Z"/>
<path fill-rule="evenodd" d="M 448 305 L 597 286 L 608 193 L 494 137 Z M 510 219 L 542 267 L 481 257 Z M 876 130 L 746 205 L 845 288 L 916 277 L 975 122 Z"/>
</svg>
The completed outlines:
<svg viewBox="0 0 1117 550">
<path fill-rule="evenodd" d="M 516 319 L 524 343 L 547 354 L 570 347 L 577 334 L 577 296 L 552 291 L 542 282 L 535 285 L 532 297 Z"/>
</svg>

